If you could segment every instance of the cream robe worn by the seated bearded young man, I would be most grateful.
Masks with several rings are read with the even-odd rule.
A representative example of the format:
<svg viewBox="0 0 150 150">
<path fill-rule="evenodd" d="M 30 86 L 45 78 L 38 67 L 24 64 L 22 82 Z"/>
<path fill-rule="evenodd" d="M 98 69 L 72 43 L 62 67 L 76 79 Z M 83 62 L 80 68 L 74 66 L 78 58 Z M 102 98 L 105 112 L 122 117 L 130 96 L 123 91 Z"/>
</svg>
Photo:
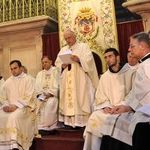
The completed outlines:
<svg viewBox="0 0 150 150">
<path fill-rule="evenodd" d="M 90 116 L 84 131 L 84 150 L 98 150 L 100 148 L 101 128 L 105 126 L 107 118 L 111 117 L 110 114 L 103 113 L 103 108 L 124 103 L 125 96 L 132 88 L 135 72 L 136 69 L 131 69 L 126 64 L 118 73 L 107 70 L 101 76 L 95 96 L 95 111 Z"/>
</svg>

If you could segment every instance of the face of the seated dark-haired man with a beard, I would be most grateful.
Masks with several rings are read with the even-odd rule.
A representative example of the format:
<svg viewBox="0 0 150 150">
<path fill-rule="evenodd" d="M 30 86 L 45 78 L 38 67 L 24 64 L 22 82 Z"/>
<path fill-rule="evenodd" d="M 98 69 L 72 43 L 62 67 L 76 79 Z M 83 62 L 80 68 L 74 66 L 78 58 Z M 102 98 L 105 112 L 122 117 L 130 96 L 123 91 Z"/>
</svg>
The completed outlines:
<svg viewBox="0 0 150 150">
<path fill-rule="evenodd" d="M 108 65 L 108 67 L 113 67 L 118 63 L 119 56 L 115 56 L 113 52 L 107 52 L 104 54 L 104 59 Z"/>
</svg>

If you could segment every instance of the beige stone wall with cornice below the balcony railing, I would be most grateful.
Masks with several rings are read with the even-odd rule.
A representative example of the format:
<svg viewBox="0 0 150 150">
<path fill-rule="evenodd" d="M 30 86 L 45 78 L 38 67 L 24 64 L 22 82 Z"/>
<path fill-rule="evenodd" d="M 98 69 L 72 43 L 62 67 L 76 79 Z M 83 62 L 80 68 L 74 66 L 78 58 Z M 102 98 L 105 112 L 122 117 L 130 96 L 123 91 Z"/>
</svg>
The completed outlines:
<svg viewBox="0 0 150 150">
<path fill-rule="evenodd" d="M 12 21 L 0 26 L 0 65 L 1 75 L 10 76 L 9 62 L 18 59 L 27 67 L 33 77 L 41 70 L 43 55 L 42 35 L 45 28 L 50 28 L 48 16 L 34 17 L 22 21 Z M 53 23 L 53 29 L 55 24 Z M 57 23 L 56 23 L 57 28 Z"/>
</svg>

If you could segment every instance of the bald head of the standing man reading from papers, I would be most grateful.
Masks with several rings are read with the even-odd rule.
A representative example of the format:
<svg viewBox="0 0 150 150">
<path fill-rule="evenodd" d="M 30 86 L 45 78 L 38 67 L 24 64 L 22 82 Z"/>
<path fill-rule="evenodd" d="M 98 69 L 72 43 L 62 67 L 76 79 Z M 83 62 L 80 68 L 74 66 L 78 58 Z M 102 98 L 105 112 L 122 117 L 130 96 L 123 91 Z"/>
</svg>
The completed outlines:
<svg viewBox="0 0 150 150">
<path fill-rule="evenodd" d="M 69 46 L 72 46 L 76 43 L 76 35 L 70 29 L 64 31 L 64 39 Z"/>
</svg>

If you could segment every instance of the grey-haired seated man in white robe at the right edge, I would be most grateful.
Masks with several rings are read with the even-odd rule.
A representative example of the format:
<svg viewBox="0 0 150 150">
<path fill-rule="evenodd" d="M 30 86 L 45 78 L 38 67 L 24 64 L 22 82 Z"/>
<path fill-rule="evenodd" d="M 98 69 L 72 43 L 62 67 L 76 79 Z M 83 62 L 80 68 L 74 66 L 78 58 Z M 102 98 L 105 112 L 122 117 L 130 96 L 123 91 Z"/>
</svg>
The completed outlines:
<svg viewBox="0 0 150 150">
<path fill-rule="evenodd" d="M 132 90 L 124 105 L 114 107 L 114 115 L 107 119 L 101 133 L 132 145 L 136 124 L 150 122 L 150 114 L 139 111 L 141 107 L 150 104 L 150 34 L 140 32 L 132 35 L 129 51 L 140 62 Z M 117 119 L 115 115 L 118 115 Z"/>
</svg>

